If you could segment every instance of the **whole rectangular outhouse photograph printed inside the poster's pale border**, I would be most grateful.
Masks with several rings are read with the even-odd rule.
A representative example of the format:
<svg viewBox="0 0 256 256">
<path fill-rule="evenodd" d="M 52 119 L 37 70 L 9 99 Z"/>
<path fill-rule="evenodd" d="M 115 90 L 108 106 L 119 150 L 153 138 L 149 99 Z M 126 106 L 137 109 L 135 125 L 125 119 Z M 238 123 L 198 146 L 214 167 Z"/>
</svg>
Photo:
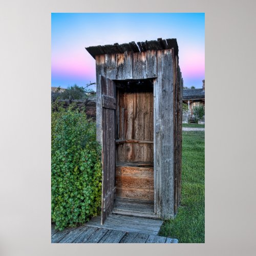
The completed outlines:
<svg viewBox="0 0 256 256">
<path fill-rule="evenodd" d="M 51 243 L 205 243 L 205 13 L 51 13 Z"/>
</svg>

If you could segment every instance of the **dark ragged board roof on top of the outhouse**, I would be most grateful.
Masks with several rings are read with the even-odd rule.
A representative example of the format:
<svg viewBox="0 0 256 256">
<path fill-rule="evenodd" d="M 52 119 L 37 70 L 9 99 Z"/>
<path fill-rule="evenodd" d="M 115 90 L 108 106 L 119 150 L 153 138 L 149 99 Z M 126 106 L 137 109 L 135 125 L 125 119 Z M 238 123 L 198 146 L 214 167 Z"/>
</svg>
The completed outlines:
<svg viewBox="0 0 256 256">
<path fill-rule="evenodd" d="M 178 55 L 179 48 L 176 38 L 172 39 L 162 39 L 157 40 L 137 42 L 137 44 L 132 41 L 129 44 L 119 45 L 118 43 L 114 45 L 104 45 L 104 46 L 89 46 L 86 50 L 95 59 L 96 55 L 101 54 L 111 54 L 111 53 L 124 53 L 124 52 L 145 52 L 147 50 L 164 50 L 174 48 L 174 54 Z"/>
</svg>

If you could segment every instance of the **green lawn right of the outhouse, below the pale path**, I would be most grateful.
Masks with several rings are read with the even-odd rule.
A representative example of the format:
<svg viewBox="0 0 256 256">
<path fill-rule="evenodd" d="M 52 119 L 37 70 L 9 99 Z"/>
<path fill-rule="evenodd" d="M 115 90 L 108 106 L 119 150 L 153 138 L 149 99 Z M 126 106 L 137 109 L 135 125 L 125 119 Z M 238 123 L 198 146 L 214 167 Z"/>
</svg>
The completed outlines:
<svg viewBox="0 0 256 256">
<path fill-rule="evenodd" d="M 182 132 L 181 205 L 160 236 L 204 243 L 204 132 Z"/>
</svg>

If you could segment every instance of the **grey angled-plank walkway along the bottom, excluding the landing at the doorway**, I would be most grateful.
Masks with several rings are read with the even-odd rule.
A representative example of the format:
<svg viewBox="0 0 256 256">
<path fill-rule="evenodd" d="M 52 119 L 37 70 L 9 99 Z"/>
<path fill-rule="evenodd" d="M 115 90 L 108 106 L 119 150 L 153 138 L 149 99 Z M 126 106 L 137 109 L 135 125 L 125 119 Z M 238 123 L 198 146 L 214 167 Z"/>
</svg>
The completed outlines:
<svg viewBox="0 0 256 256">
<path fill-rule="evenodd" d="M 116 229 L 80 226 L 57 231 L 52 225 L 52 243 L 178 243 L 177 239 Z"/>
</svg>

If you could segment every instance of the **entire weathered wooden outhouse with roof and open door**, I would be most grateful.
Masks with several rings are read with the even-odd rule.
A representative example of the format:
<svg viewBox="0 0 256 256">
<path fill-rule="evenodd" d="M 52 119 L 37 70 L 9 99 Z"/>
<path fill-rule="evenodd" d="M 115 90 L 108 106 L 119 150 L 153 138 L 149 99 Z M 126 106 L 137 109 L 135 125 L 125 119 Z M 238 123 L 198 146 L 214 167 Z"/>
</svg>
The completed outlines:
<svg viewBox="0 0 256 256">
<path fill-rule="evenodd" d="M 182 78 L 176 39 L 87 47 L 96 60 L 101 224 L 175 217 L 181 199 Z"/>
</svg>

